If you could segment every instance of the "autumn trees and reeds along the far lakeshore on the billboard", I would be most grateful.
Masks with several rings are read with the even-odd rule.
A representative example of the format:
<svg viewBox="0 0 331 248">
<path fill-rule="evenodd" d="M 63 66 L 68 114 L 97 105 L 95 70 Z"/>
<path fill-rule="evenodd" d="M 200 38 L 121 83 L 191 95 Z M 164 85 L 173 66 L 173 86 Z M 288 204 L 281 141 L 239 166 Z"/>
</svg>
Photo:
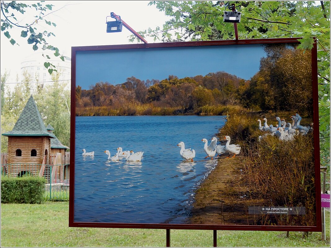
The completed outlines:
<svg viewBox="0 0 331 248">
<path fill-rule="evenodd" d="M 97 82 L 89 90 L 78 85 L 76 115 L 225 114 L 224 106 L 311 115 L 310 51 L 284 44 L 265 45 L 264 51 L 260 70 L 250 80 L 217 71 L 146 81 L 131 76 L 117 85 Z"/>
</svg>

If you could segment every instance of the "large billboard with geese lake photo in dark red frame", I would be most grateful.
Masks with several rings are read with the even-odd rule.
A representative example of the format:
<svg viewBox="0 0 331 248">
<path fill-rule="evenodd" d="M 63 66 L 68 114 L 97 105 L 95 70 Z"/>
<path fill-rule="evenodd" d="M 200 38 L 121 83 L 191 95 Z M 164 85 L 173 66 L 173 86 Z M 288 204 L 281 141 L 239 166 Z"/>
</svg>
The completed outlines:
<svg viewBox="0 0 331 248">
<path fill-rule="evenodd" d="M 71 227 L 320 231 L 316 46 L 72 48 Z"/>
</svg>

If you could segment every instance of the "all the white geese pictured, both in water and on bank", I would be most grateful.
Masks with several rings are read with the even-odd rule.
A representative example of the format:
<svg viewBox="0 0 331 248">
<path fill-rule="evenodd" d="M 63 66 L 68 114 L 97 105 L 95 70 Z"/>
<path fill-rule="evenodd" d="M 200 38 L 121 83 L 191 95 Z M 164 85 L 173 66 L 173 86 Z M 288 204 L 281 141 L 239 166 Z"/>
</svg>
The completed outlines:
<svg viewBox="0 0 331 248">
<path fill-rule="evenodd" d="M 286 123 L 284 119 L 280 119 L 279 117 L 276 117 L 276 120 L 278 121 L 278 124 L 274 127 L 273 125 L 268 126 L 267 119 L 263 118 L 264 125 L 261 125 L 261 120 L 257 120 L 259 122 L 259 130 L 268 132 L 262 136 L 259 136 L 259 141 L 266 137 L 267 135 L 272 135 L 278 137 L 280 140 L 292 140 L 294 139 L 294 136 L 297 134 L 306 135 L 309 130 L 312 129 L 312 127 L 305 127 L 300 125 L 300 121 L 302 117 L 299 114 L 295 114 L 291 116 L 292 124 L 290 122 Z M 226 140 L 225 145 L 217 145 L 217 138 L 213 137 L 211 140 L 211 143 L 208 145 L 207 139 L 202 139 L 201 141 L 205 143 L 204 150 L 207 154 L 205 158 L 213 157 L 218 154 L 224 155 L 226 153 L 229 153 L 232 155 L 232 157 L 235 157 L 237 154 L 240 153 L 241 147 L 240 145 L 230 145 L 231 138 L 230 136 L 225 136 L 224 141 Z M 187 160 L 192 161 L 195 157 L 195 150 L 188 148 L 185 149 L 184 142 L 179 142 L 178 145 L 180 147 L 179 154 L 180 156 Z M 86 152 L 85 149 L 82 150 L 83 156 L 94 156 L 94 151 L 92 152 Z M 132 150 L 123 151 L 122 147 L 117 148 L 117 153 L 114 156 L 111 156 L 109 150 L 104 151 L 108 155 L 108 160 L 110 161 L 119 161 L 121 159 L 125 159 L 126 161 L 141 161 L 142 156 L 144 154 L 143 151 L 133 152 Z M 228 157 L 227 157 L 228 158 Z"/>
</svg>

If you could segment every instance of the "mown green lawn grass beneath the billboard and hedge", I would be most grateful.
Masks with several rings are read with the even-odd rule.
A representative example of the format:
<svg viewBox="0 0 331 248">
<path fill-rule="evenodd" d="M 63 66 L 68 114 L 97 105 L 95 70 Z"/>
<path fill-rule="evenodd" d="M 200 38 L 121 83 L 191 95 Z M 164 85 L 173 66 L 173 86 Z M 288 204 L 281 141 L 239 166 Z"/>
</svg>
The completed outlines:
<svg viewBox="0 0 331 248">
<path fill-rule="evenodd" d="M 166 230 L 68 227 L 68 202 L 1 204 L 1 247 L 163 247 Z M 326 212 L 327 241 L 321 233 L 276 231 L 217 231 L 218 247 L 329 247 L 330 212 Z M 211 230 L 171 230 L 172 247 L 212 247 Z"/>
</svg>

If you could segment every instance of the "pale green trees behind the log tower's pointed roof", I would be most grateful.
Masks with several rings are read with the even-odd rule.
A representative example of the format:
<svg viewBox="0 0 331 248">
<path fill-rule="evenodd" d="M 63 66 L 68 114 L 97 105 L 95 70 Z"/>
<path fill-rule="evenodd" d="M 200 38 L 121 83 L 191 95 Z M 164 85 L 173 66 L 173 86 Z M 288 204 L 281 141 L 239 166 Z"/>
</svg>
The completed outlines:
<svg viewBox="0 0 331 248">
<path fill-rule="evenodd" d="M 59 72 L 52 74 L 58 80 Z M 29 81 L 29 73 L 24 73 L 23 81 Z M 29 83 L 19 83 L 14 90 L 5 87 L 6 77 L 1 75 L 1 133 L 11 131 L 31 93 L 37 104 L 45 125 L 54 127 L 54 134 L 63 145 L 70 146 L 70 89 L 68 82 L 54 82 L 41 87 Z M 2 93 L 4 92 L 4 93 Z M 7 152 L 8 138 L 1 135 L 1 152 Z"/>
</svg>

